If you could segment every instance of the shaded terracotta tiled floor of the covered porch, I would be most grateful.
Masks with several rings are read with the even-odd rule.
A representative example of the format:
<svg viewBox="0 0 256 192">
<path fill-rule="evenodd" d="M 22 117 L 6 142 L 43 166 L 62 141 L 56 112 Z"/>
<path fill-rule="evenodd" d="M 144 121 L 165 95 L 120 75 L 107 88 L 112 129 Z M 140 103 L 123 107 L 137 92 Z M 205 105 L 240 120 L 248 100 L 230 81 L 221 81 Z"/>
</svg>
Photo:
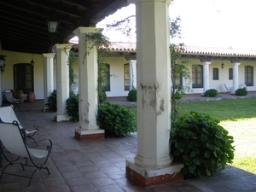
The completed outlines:
<svg viewBox="0 0 256 192">
<path fill-rule="evenodd" d="M 137 134 L 123 138 L 106 138 L 80 141 L 74 138 L 76 122 L 56 123 L 54 113 L 43 112 L 43 102 L 23 103 L 15 109 L 19 119 L 36 119 L 39 123 L 37 139 L 49 138 L 53 142 L 47 162 L 50 175 L 45 170 L 36 172 L 32 184 L 28 178 L 3 175 L 1 192 L 9 191 L 160 191 L 160 192 L 230 192 L 256 191 L 256 175 L 227 167 L 215 177 L 203 177 L 182 182 L 143 188 L 125 177 L 125 160 L 137 153 Z M 3 166 L 6 165 L 3 160 Z M 2 168 L 0 168 L 2 171 Z M 21 171 L 19 165 L 11 171 Z"/>
</svg>

